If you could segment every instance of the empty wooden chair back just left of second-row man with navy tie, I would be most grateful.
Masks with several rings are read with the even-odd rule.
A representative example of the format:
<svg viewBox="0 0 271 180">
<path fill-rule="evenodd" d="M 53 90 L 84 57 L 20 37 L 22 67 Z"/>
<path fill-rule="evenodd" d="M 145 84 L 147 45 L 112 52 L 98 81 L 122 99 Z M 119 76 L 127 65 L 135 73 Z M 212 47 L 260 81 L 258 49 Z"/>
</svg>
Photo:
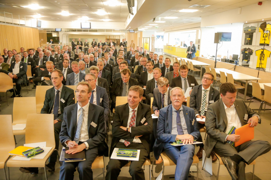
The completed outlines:
<svg viewBox="0 0 271 180">
<path fill-rule="evenodd" d="M 37 114 L 40 114 L 41 108 L 43 107 L 46 91 L 53 86 L 37 86 L 36 88 L 36 107 Z"/>
</svg>

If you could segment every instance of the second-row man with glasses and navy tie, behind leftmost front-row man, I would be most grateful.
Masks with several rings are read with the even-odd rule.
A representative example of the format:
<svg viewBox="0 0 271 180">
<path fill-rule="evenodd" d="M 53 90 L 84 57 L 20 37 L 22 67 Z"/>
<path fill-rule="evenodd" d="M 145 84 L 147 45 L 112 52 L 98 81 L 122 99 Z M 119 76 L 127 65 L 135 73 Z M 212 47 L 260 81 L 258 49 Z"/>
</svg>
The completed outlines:
<svg viewBox="0 0 271 180">
<path fill-rule="evenodd" d="M 46 62 L 46 66 L 49 64 L 50 67 L 53 66 L 52 64 L 53 62 L 51 63 L 50 62 L 51 61 Z M 61 130 L 63 120 L 64 107 L 74 104 L 75 100 L 74 100 L 74 90 L 62 84 L 63 81 L 62 72 L 58 69 L 51 71 L 51 69 L 53 68 L 50 68 L 49 71 L 51 72 L 51 80 L 54 87 L 46 91 L 44 105 L 40 113 L 54 114 L 54 139 L 56 147 L 53 148 L 58 150 L 59 133 Z M 49 172 L 55 171 L 56 160 L 57 160 L 57 151 L 54 151 L 49 158 L 49 164 L 46 164 L 45 166 L 45 168 L 48 169 Z M 20 168 L 20 171 L 25 173 L 38 174 L 38 168 Z"/>
</svg>

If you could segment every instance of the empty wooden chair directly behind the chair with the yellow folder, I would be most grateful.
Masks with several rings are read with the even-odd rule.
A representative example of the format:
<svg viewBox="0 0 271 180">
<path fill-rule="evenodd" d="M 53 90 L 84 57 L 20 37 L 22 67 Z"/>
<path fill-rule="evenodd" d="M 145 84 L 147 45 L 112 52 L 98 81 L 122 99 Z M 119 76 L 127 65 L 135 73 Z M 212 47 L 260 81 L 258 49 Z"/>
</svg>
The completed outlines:
<svg viewBox="0 0 271 180">
<path fill-rule="evenodd" d="M 37 114 L 36 97 L 14 97 L 12 125 L 26 124 L 28 114 Z M 13 134 L 15 139 L 15 135 L 25 134 L 25 129 L 14 130 Z"/>
</svg>

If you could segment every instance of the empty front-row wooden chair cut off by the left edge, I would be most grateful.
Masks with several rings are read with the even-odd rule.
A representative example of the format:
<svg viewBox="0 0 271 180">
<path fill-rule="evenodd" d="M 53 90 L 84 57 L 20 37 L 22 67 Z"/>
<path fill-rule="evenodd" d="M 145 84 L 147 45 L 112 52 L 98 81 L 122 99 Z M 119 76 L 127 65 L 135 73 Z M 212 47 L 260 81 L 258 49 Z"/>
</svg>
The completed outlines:
<svg viewBox="0 0 271 180">
<path fill-rule="evenodd" d="M 6 161 L 9 158 L 8 152 L 14 150 L 15 148 L 15 141 L 13 138 L 13 132 L 12 132 L 12 117 L 11 115 L 0 115 L 0 137 L 5 137 L 5 140 L 2 141 L 1 143 L 1 149 L 0 149 L 0 168 L 4 168 L 4 175 L 5 179 L 7 180 L 7 175 L 6 175 L 6 169 L 5 169 L 5 164 Z M 8 168 L 9 172 L 9 168 Z M 8 173 L 8 179 L 9 178 L 9 173 Z"/>
</svg>

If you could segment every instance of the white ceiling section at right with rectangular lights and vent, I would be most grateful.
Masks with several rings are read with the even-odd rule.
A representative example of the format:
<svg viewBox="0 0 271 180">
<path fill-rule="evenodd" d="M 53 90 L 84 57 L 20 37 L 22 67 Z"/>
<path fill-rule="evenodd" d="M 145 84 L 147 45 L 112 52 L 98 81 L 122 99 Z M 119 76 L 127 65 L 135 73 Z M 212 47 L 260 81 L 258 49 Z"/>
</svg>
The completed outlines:
<svg viewBox="0 0 271 180">
<path fill-rule="evenodd" d="M 263 0 L 266 1 L 266 0 Z M 143 24 L 138 27 L 138 29 L 145 28 L 145 26 L 151 26 L 149 24 L 158 24 L 158 29 L 154 26 L 152 28 L 144 29 L 146 31 L 153 30 L 163 30 L 167 28 L 172 28 L 176 26 L 185 26 L 189 24 L 199 23 L 201 22 L 201 17 L 213 15 L 216 13 L 228 11 L 231 9 L 236 9 L 243 6 L 248 6 L 251 4 L 255 4 L 259 2 L 259 0 L 181 0 L 178 5 L 173 8 L 165 11 L 161 15 L 157 16 L 155 21 L 159 21 L 159 17 L 161 17 L 161 21 L 166 21 L 165 23 L 156 23 L 153 20 Z M 210 5 L 206 8 L 188 8 L 194 4 L 197 5 Z M 196 12 L 179 12 L 181 9 L 198 9 Z M 176 10 L 176 11 L 174 11 Z M 178 17 L 177 19 L 164 19 L 164 17 Z M 191 19 L 191 20 L 184 20 Z"/>
</svg>

